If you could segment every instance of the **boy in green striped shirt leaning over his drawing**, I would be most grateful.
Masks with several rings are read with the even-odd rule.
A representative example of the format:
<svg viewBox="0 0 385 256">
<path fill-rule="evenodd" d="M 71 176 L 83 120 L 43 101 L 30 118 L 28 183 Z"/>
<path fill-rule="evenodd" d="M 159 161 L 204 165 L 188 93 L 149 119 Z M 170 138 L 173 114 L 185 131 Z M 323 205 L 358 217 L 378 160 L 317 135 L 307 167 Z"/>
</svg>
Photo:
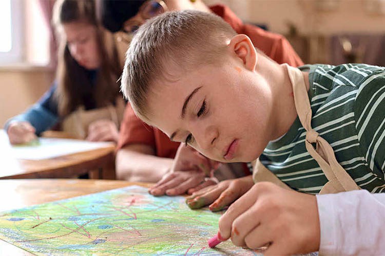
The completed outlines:
<svg viewBox="0 0 385 256">
<path fill-rule="evenodd" d="M 144 24 L 133 38 L 122 91 L 142 120 L 210 159 L 260 158 L 286 185 L 317 194 L 329 178 L 304 141 L 322 146 L 321 135 L 353 187 L 381 192 L 385 68 L 302 70 L 278 65 L 214 15 L 170 12 Z M 298 120 L 297 83 L 311 101 L 310 133 L 304 132 L 309 127 L 302 126 L 302 115 Z M 379 253 L 385 249 L 377 223 L 384 204 L 382 194 L 365 190 L 315 197 L 261 182 L 221 217 L 220 237 L 250 248 L 268 244 L 266 254 Z"/>
</svg>

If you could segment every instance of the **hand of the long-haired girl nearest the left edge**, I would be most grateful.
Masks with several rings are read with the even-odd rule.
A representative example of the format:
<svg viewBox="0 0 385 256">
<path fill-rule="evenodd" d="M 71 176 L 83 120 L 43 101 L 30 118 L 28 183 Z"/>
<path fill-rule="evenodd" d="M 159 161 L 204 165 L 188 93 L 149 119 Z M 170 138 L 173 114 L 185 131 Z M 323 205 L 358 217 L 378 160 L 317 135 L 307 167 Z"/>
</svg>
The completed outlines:
<svg viewBox="0 0 385 256">
<path fill-rule="evenodd" d="M 37 139 L 35 128 L 29 122 L 12 122 L 7 130 L 11 144 L 22 144 Z"/>
</svg>

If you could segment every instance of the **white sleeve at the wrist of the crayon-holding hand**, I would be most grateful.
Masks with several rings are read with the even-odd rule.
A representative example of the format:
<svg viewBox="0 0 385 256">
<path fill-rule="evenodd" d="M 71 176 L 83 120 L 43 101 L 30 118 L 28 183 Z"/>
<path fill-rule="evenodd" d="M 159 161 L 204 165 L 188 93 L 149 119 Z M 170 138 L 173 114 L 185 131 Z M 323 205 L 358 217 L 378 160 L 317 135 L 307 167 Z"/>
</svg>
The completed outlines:
<svg viewBox="0 0 385 256">
<path fill-rule="evenodd" d="M 385 193 L 355 190 L 317 195 L 319 254 L 380 255 L 385 252 Z"/>
</svg>

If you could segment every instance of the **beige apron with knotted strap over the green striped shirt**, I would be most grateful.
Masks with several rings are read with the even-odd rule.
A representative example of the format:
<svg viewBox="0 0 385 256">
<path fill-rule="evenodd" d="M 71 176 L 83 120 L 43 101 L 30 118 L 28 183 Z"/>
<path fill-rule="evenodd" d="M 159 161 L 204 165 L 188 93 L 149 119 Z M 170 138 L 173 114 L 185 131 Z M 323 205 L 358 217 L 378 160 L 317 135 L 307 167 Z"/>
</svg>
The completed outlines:
<svg viewBox="0 0 385 256">
<path fill-rule="evenodd" d="M 332 194 L 360 189 L 352 177 L 350 177 L 337 162 L 332 146 L 312 129 L 312 110 L 310 108 L 309 96 L 307 95 L 306 84 L 302 72 L 297 68 L 290 67 L 286 64 L 284 65 L 287 68 L 287 72 L 293 86 L 294 103 L 299 120 L 306 130 L 306 150 L 317 161 L 322 169 L 322 172 L 329 180 L 322 187 L 319 194 Z M 312 143 L 316 144 L 316 148 L 313 147 Z M 253 166 L 254 182 L 269 181 L 279 185 L 280 187 L 290 189 L 290 187 L 288 187 L 270 170 L 268 170 L 259 161 L 259 159 L 253 162 Z"/>
</svg>

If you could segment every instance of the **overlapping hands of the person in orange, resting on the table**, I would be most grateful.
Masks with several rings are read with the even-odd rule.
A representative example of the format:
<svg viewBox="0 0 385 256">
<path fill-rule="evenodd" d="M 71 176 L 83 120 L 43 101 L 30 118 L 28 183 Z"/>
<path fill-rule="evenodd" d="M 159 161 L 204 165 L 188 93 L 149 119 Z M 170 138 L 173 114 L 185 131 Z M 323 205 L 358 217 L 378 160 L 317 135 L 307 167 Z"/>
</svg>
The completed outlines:
<svg viewBox="0 0 385 256">
<path fill-rule="evenodd" d="M 153 196 L 191 194 L 195 190 L 218 183 L 212 176 L 219 163 L 209 160 L 183 143 L 178 148 L 171 171 L 149 189 Z"/>
</svg>

